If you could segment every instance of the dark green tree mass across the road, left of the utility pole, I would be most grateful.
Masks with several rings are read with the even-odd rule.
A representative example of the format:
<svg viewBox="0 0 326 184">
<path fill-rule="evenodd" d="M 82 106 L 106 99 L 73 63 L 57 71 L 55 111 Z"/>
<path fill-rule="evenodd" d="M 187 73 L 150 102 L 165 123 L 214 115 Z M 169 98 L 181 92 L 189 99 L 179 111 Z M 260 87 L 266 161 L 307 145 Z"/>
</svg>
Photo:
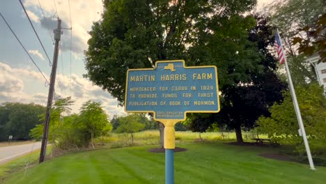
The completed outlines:
<svg viewBox="0 0 326 184">
<path fill-rule="evenodd" d="M 40 124 L 39 117 L 45 114 L 42 105 L 22 104 L 20 102 L 6 102 L 0 105 L 0 141 L 7 140 L 9 135 L 13 139 L 28 140 L 29 130 Z"/>
</svg>

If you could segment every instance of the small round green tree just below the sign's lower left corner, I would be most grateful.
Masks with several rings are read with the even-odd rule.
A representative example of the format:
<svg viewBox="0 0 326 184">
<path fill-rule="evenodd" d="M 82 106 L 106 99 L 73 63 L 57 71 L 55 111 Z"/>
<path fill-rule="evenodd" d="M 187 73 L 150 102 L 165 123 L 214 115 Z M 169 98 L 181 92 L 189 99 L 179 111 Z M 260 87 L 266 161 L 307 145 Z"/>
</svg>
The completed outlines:
<svg viewBox="0 0 326 184">
<path fill-rule="evenodd" d="M 131 135 L 132 144 L 134 144 L 134 133 L 139 132 L 145 127 L 143 123 L 140 123 L 140 114 L 130 114 L 125 117 L 119 118 L 120 126 L 116 129 L 118 133 L 128 133 Z"/>
</svg>

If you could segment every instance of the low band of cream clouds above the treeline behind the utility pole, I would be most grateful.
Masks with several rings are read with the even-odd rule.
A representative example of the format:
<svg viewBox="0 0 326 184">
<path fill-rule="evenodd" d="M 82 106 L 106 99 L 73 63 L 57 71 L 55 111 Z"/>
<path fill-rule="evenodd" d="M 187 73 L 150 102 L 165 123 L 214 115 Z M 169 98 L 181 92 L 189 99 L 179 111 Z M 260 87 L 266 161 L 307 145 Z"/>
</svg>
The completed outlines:
<svg viewBox="0 0 326 184">
<path fill-rule="evenodd" d="M 45 77 L 49 78 L 47 75 Z M 0 62 L 0 103 L 7 101 L 35 102 L 46 105 L 48 87 L 44 86 L 44 82 L 45 79 L 39 72 L 24 68 L 11 68 L 8 64 Z M 37 92 L 29 93 L 28 86 L 38 89 Z M 118 102 L 109 93 L 75 74 L 72 74 L 71 81 L 70 77 L 56 75 L 55 93 L 61 97 L 71 96 L 72 100 L 75 100 L 75 104 L 72 105 L 72 113 L 78 113 L 84 102 L 93 100 L 102 102 L 102 107 L 110 117 L 113 117 L 114 114 L 119 116 L 125 114 L 123 107 L 118 107 Z"/>
</svg>

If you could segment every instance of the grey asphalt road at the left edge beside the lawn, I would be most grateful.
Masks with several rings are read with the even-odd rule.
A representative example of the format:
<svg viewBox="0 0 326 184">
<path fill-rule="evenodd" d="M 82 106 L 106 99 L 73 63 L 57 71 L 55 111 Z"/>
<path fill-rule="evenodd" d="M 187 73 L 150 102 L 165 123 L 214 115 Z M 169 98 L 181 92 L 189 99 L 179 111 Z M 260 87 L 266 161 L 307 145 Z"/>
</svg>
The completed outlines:
<svg viewBox="0 0 326 184">
<path fill-rule="evenodd" d="M 22 144 L 17 146 L 6 146 L 0 148 L 0 164 L 13 160 L 22 155 L 31 153 L 41 147 L 41 142 L 32 144 Z"/>
</svg>

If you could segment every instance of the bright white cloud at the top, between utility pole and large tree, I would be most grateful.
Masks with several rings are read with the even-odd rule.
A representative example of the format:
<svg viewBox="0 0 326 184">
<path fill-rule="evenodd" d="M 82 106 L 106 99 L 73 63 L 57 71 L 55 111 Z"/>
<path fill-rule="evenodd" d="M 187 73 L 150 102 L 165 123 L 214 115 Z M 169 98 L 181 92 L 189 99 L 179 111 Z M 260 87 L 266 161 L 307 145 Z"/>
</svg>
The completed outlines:
<svg viewBox="0 0 326 184">
<path fill-rule="evenodd" d="M 46 18 L 40 20 L 43 27 L 47 27 L 52 31 L 56 27 L 56 20 L 50 18 L 53 17 L 56 10 L 58 10 L 58 15 L 62 20 L 63 27 L 72 27 L 72 52 L 82 54 L 84 49 L 87 49 L 87 40 L 90 38 L 88 31 L 91 30 L 92 23 L 94 21 L 100 20 L 100 13 L 102 13 L 103 6 L 102 0 L 94 1 L 84 1 L 84 0 L 70 0 L 71 8 L 71 19 L 72 25 L 70 25 L 70 13 L 69 4 L 66 0 L 56 0 L 56 10 L 53 1 L 40 1 L 42 8 L 45 12 Z M 27 8 L 33 7 L 39 9 L 38 0 L 26 0 L 24 5 Z M 52 23 L 49 23 L 49 19 L 52 19 Z M 63 43 L 63 50 L 70 49 L 70 31 L 63 31 L 63 36 L 61 37 Z"/>
</svg>

